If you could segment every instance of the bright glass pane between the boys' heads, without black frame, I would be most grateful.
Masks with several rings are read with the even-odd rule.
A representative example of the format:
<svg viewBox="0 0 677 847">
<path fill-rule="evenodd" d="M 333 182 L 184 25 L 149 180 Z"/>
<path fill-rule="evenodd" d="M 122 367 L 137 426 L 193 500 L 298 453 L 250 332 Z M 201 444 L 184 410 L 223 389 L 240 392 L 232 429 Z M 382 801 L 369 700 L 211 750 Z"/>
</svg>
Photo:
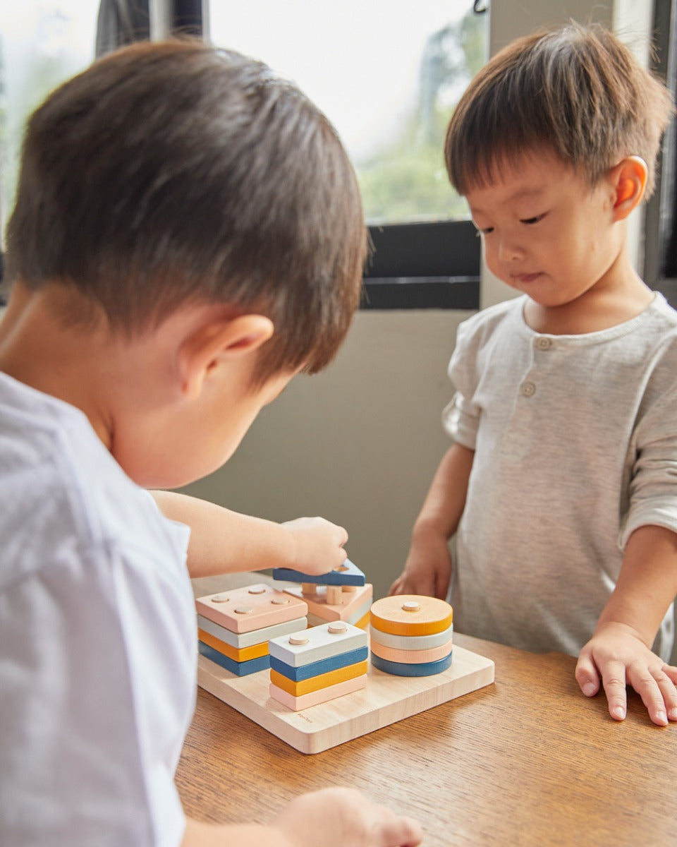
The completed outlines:
<svg viewBox="0 0 677 847">
<path fill-rule="evenodd" d="M 487 56 L 467 0 L 218 0 L 212 42 L 294 80 L 339 130 L 373 224 L 465 218 L 443 163 L 454 102 Z"/>
</svg>

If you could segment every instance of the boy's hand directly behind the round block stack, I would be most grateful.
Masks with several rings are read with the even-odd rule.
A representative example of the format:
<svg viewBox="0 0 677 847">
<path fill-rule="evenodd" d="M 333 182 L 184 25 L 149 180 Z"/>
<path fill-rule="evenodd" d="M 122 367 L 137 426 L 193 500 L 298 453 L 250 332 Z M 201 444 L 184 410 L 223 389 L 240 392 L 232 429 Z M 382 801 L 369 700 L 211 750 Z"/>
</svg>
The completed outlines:
<svg viewBox="0 0 677 847">
<path fill-rule="evenodd" d="M 446 535 L 432 529 L 416 532 L 405 570 L 388 594 L 422 594 L 445 600 L 451 577 L 451 554 Z"/>
</svg>

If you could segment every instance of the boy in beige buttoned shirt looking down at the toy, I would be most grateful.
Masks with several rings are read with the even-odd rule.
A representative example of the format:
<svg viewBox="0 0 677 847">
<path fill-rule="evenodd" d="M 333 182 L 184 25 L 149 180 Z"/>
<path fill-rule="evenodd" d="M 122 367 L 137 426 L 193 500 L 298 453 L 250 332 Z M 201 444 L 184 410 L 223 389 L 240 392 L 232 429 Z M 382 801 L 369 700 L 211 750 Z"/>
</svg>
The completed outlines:
<svg viewBox="0 0 677 847">
<path fill-rule="evenodd" d="M 677 313 L 632 268 L 626 222 L 672 111 L 614 36 L 574 24 L 505 47 L 465 91 L 449 177 L 523 296 L 460 325 L 454 445 L 391 589 L 444 597 L 451 577 L 461 632 L 577 655 L 584 694 L 601 678 L 622 720 L 630 684 L 661 725 L 677 721 Z"/>
</svg>

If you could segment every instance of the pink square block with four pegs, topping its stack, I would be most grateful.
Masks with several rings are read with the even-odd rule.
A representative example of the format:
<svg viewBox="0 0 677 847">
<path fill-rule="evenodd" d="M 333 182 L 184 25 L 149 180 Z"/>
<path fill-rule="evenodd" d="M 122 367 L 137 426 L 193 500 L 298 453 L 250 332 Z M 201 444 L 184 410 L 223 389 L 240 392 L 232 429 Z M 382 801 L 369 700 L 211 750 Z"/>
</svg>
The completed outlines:
<svg viewBox="0 0 677 847">
<path fill-rule="evenodd" d="M 248 633 L 275 623 L 293 621 L 305 617 L 308 612 L 305 601 L 264 584 L 198 597 L 195 608 L 207 620 L 233 633 Z M 299 628 L 305 628 L 303 623 Z"/>
</svg>

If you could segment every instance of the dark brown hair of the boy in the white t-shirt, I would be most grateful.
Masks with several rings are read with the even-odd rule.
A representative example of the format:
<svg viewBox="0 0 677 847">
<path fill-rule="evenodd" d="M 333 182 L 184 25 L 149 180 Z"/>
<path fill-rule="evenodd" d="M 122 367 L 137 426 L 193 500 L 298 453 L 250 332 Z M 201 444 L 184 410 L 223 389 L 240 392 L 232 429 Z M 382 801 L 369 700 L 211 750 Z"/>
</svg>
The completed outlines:
<svg viewBox="0 0 677 847">
<path fill-rule="evenodd" d="M 8 277 L 73 286 L 113 332 L 133 336 L 189 302 L 231 303 L 275 325 L 256 381 L 314 373 L 350 325 L 365 253 L 335 130 L 238 53 L 197 41 L 124 48 L 28 124 Z"/>
</svg>

